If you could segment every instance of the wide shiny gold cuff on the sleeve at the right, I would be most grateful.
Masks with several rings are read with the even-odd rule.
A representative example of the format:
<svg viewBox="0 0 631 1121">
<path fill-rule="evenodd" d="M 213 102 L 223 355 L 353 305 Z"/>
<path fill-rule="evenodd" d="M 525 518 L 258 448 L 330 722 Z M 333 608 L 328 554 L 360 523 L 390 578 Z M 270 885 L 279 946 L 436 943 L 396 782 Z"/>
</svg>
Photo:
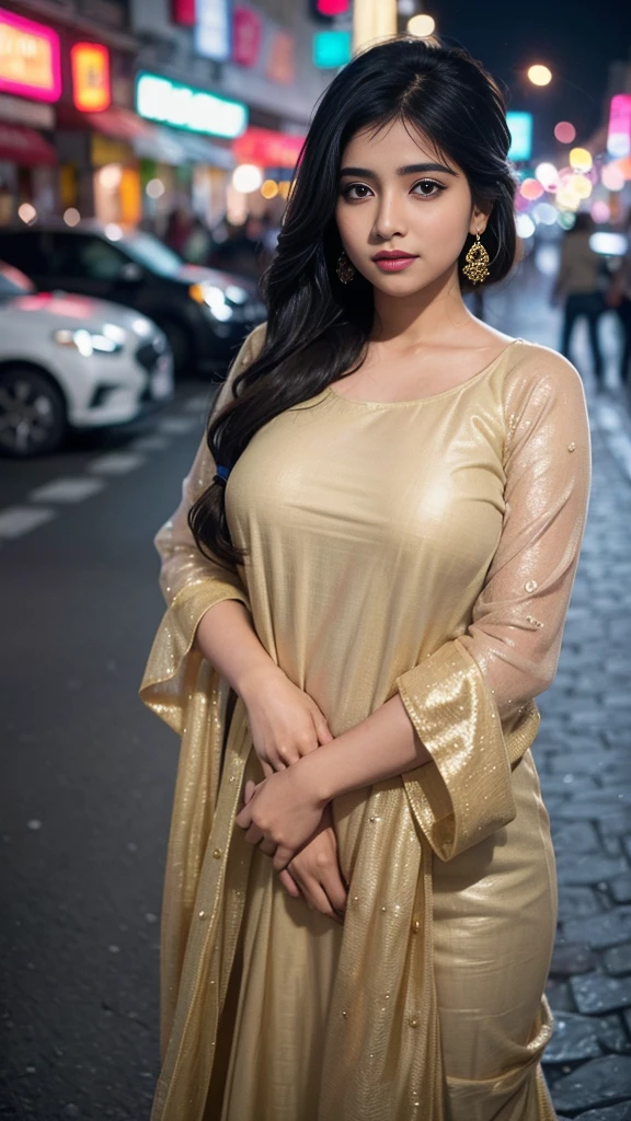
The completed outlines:
<svg viewBox="0 0 631 1121">
<path fill-rule="evenodd" d="M 432 757 L 402 776 L 410 807 L 437 856 L 449 861 L 515 817 L 511 762 L 534 739 L 539 713 L 527 706 L 509 744 L 483 673 L 457 639 L 401 674 L 395 688 Z"/>
</svg>

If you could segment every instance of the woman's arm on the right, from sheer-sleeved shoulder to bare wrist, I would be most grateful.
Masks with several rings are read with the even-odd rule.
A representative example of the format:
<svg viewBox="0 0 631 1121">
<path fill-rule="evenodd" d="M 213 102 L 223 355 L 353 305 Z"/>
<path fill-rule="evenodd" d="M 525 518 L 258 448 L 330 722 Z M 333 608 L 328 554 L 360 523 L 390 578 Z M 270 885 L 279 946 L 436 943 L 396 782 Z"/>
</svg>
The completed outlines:
<svg viewBox="0 0 631 1121">
<path fill-rule="evenodd" d="M 521 385 L 515 378 L 509 392 L 504 525 L 472 623 L 402 674 L 396 695 L 367 720 L 301 761 L 324 798 L 405 773 L 415 761 L 439 760 L 449 782 L 476 745 L 482 763 L 467 661 L 482 671 L 500 734 L 501 720 L 519 721 L 555 678 L 587 515 L 589 423 L 574 367 L 551 352 L 536 360 L 549 371 Z"/>
</svg>

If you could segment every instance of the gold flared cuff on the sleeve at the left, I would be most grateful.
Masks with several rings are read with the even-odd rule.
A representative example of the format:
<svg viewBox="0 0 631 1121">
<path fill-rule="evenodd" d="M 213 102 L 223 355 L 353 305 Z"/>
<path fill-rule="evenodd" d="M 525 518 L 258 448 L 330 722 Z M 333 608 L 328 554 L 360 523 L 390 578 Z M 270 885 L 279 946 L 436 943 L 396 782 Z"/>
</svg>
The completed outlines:
<svg viewBox="0 0 631 1121">
<path fill-rule="evenodd" d="M 235 583 L 208 580 L 188 585 L 163 615 L 155 636 L 138 695 L 156 716 L 182 735 L 189 680 L 196 679 L 201 650 L 193 649 L 202 615 L 223 600 L 238 600 L 248 611 L 245 590 Z"/>
</svg>

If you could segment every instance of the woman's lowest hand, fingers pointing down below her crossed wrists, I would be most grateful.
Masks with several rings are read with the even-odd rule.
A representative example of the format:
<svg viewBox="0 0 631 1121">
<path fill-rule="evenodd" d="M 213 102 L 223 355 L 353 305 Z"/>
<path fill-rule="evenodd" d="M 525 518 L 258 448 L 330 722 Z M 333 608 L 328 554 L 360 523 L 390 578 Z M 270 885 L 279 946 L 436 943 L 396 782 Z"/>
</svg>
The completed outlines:
<svg viewBox="0 0 631 1121">
<path fill-rule="evenodd" d="M 312 840 L 283 871 L 281 883 L 294 899 L 303 897 L 308 907 L 344 923 L 348 889 L 344 882 L 330 805 L 322 814 Z"/>
</svg>

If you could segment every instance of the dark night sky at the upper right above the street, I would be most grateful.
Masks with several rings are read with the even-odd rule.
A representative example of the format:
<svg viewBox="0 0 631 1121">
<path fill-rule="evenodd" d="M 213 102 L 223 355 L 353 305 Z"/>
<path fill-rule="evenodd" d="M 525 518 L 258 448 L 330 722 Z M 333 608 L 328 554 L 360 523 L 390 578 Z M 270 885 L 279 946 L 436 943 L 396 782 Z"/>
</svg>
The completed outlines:
<svg viewBox="0 0 631 1121">
<path fill-rule="evenodd" d="M 426 0 L 422 10 L 509 85 L 509 109 L 534 113 L 539 155 L 554 152 L 559 120 L 575 124 L 576 142 L 587 141 L 603 121 L 609 64 L 631 66 L 631 0 Z M 550 85 L 525 78 L 532 63 L 550 67 Z"/>
</svg>

